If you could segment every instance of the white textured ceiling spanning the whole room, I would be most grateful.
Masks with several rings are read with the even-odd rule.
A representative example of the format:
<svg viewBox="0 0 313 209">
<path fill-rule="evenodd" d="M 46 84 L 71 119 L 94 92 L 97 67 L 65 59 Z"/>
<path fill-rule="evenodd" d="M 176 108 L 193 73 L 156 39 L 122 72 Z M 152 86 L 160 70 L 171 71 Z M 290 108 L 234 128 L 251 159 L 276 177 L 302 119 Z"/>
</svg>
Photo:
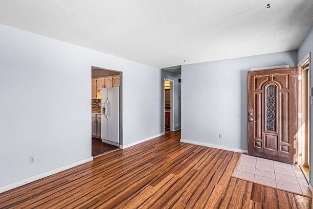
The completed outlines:
<svg viewBox="0 0 313 209">
<path fill-rule="evenodd" d="M 0 23 L 166 68 L 297 49 L 313 0 L 0 0 Z"/>
</svg>

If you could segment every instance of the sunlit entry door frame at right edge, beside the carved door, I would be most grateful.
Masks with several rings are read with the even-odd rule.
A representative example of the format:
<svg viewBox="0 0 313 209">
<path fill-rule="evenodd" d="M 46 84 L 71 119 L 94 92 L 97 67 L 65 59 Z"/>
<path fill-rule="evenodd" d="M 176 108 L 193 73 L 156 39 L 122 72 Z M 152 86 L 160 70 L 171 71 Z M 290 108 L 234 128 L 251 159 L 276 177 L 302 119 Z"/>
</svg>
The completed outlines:
<svg viewBox="0 0 313 209">
<path fill-rule="evenodd" d="M 307 151 L 307 162 L 306 162 L 306 164 L 309 166 L 309 176 L 311 176 L 312 175 L 312 169 L 311 169 L 311 166 L 310 166 L 310 159 L 311 159 L 311 149 L 310 149 L 310 142 L 311 142 L 311 135 L 310 135 L 310 130 L 311 130 L 311 117 L 310 117 L 310 115 L 311 115 L 311 97 L 312 97 L 312 88 L 311 88 L 311 84 L 310 84 L 310 69 L 311 69 L 311 63 L 310 63 L 310 61 L 311 61 L 311 52 L 309 52 L 308 54 L 306 54 L 304 57 L 303 57 L 303 59 L 298 63 L 298 68 L 299 68 L 299 74 L 300 74 L 300 71 L 301 71 L 301 73 L 302 73 L 302 71 L 304 70 L 303 69 L 303 66 L 305 66 L 305 65 L 307 65 L 307 64 L 309 64 L 309 69 L 307 69 L 307 80 L 306 80 L 306 88 L 307 88 L 307 93 L 305 92 L 305 94 L 306 95 L 303 95 L 303 93 L 301 92 L 301 95 L 300 95 L 300 85 L 299 85 L 299 107 L 300 107 L 300 104 L 302 104 L 302 103 L 300 103 L 300 102 L 302 102 L 303 100 L 303 96 L 306 96 L 306 101 L 307 101 L 307 113 L 305 113 L 305 116 L 307 117 L 307 123 L 308 123 L 308 125 L 306 126 L 307 127 L 307 130 L 305 131 L 305 134 L 307 134 L 307 141 L 305 142 L 306 144 L 305 144 L 305 146 L 307 146 L 306 148 L 305 148 L 305 150 Z M 302 74 L 301 74 L 302 75 Z M 303 79 L 302 79 L 302 81 L 301 80 L 299 80 L 299 84 L 300 83 L 302 83 L 303 82 Z M 311 95 L 310 95 L 311 94 Z M 302 116 L 303 116 L 303 112 L 302 112 L 302 110 L 300 111 L 299 110 L 299 114 L 301 114 Z M 299 120 L 301 120 L 302 121 L 302 119 L 301 118 L 299 118 Z M 299 123 L 299 128 L 298 128 L 298 130 L 299 130 L 299 139 L 300 139 L 300 135 L 301 135 L 301 133 L 300 133 L 300 123 Z M 303 138 L 303 137 L 302 137 Z M 302 144 L 303 143 L 300 143 L 300 141 L 299 141 L 299 152 L 301 151 L 302 152 L 302 149 L 303 149 L 303 147 L 302 147 Z M 299 165 L 300 165 L 300 167 L 302 167 L 302 162 L 300 162 L 300 156 L 299 156 Z M 303 169 L 303 168 L 302 168 Z"/>
</svg>

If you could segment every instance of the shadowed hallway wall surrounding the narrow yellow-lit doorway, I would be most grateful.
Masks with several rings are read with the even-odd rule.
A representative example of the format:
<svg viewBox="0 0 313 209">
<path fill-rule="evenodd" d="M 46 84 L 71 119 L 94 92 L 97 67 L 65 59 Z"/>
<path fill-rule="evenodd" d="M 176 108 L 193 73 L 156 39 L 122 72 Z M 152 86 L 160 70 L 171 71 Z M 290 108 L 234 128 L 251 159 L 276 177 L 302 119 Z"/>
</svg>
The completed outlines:
<svg viewBox="0 0 313 209">
<path fill-rule="evenodd" d="M 164 78 L 170 79 L 174 81 L 174 125 L 179 125 L 180 124 L 180 107 L 181 107 L 181 99 L 179 99 L 179 96 L 181 95 L 181 83 L 178 82 L 178 79 L 181 78 L 180 74 L 174 73 L 174 72 L 169 72 L 166 70 L 161 70 L 161 83 L 164 82 Z M 164 104 L 164 87 L 162 86 L 162 100 L 161 103 Z M 161 114 L 162 117 L 164 118 L 164 110 L 163 106 L 161 109 Z M 161 124 L 164 127 L 164 119 L 163 123 Z"/>
</svg>

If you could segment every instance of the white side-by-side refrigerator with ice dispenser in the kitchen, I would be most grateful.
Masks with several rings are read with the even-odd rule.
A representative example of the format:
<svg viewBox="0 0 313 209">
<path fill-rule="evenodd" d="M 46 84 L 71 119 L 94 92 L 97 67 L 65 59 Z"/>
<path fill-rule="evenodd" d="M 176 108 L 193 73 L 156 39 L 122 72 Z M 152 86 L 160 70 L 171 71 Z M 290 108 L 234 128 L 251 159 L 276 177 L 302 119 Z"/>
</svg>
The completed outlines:
<svg viewBox="0 0 313 209">
<path fill-rule="evenodd" d="M 119 87 L 101 91 L 101 140 L 119 146 Z"/>
</svg>

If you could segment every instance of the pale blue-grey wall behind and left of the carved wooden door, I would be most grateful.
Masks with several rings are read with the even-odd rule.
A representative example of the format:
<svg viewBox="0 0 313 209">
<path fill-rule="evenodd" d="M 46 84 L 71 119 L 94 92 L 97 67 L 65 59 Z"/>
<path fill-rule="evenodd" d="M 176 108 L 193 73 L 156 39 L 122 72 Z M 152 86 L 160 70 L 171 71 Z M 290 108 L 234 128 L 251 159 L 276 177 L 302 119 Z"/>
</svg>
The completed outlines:
<svg viewBox="0 0 313 209">
<path fill-rule="evenodd" d="M 296 67 L 297 51 L 182 66 L 182 141 L 247 150 L 246 72 L 277 65 Z"/>
</svg>

